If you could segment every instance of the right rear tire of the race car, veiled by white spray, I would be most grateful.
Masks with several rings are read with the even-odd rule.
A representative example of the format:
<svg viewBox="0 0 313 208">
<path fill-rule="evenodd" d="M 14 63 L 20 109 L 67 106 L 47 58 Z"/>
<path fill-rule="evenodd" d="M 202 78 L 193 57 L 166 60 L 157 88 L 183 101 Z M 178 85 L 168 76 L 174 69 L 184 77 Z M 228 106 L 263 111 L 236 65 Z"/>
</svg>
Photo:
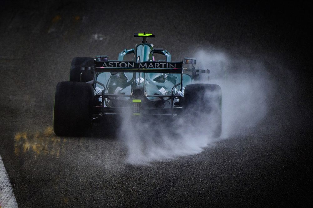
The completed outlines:
<svg viewBox="0 0 313 208">
<path fill-rule="evenodd" d="M 184 90 L 184 112 L 189 122 L 205 122 L 208 119 L 208 128 L 213 137 L 219 137 L 222 133 L 222 90 L 219 85 L 191 84 Z M 197 125 L 197 124 L 196 124 Z M 206 126 L 205 126 L 206 127 Z"/>
</svg>

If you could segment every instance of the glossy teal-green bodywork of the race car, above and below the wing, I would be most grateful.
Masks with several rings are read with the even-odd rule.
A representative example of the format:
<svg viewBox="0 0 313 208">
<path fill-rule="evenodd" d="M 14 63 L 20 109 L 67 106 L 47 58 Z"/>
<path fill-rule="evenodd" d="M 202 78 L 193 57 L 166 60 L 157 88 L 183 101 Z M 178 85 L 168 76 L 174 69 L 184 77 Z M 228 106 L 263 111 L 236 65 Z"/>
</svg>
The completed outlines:
<svg viewBox="0 0 313 208">
<path fill-rule="evenodd" d="M 125 49 L 121 51 L 118 56 L 118 61 L 123 61 L 126 55 L 133 54 L 133 61 L 140 63 L 145 61 L 157 62 L 154 60 L 154 54 L 161 54 L 164 56 L 164 60 L 171 62 L 171 54 L 166 49 L 154 48 L 150 43 L 142 42 L 135 46 L 133 49 Z M 181 83 L 182 85 L 177 85 Z M 170 95 L 172 89 L 174 94 L 180 94 L 183 96 L 184 88 L 186 85 L 192 83 L 192 76 L 187 74 L 172 74 L 172 73 L 153 73 L 151 72 L 96 72 L 96 87 L 101 89 L 105 88 L 106 94 L 121 94 L 131 95 L 133 88 L 141 88 L 145 95 Z M 173 86 L 177 85 L 173 88 Z M 103 87 L 105 86 L 105 87 Z M 123 101 L 127 102 L 129 97 L 115 97 L 111 99 L 105 99 L 104 107 L 122 107 L 125 106 Z M 164 100 L 159 97 L 146 97 L 144 102 Z M 169 100 L 162 104 L 162 107 L 171 107 Z"/>
</svg>

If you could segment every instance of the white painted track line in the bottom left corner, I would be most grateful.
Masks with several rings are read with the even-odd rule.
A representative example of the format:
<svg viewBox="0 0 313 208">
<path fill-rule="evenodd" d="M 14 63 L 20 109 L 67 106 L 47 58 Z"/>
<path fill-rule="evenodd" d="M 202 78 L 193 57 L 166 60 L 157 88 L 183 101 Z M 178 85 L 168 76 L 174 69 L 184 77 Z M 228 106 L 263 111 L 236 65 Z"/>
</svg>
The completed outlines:
<svg viewBox="0 0 313 208">
<path fill-rule="evenodd" d="M 12 186 L 0 156 L 0 207 L 18 207 Z"/>
</svg>

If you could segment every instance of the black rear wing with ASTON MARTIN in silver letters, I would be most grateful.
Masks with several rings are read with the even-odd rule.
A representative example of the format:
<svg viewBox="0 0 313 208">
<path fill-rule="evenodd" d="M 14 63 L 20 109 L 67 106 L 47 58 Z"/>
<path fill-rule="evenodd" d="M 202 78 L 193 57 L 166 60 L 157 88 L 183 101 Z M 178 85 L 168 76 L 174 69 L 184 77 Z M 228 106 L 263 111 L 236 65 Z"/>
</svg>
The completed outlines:
<svg viewBox="0 0 313 208">
<path fill-rule="evenodd" d="M 144 72 L 182 74 L 181 62 L 134 62 L 95 60 L 95 72 Z"/>
</svg>

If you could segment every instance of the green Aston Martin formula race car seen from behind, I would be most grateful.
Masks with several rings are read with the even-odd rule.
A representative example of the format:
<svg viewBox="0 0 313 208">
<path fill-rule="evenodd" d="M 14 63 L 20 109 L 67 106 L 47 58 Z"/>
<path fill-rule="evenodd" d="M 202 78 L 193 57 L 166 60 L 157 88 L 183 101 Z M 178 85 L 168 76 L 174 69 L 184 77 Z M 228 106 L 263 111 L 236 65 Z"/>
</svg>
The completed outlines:
<svg viewBox="0 0 313 208">
<path fill-rule="evenodd" d="M 214 118 L 212 136 L 222 131 L 222 91 L 219 85 L 195 84 L 200 73 L 196 59 L 172 62 L 171 54 L 155 48 L 146 38 L 151 33 L 136 33 L 143 41 L 122 51 L 118 60 L 108 56 L 75 57 L 69 81 L 59 82 L 54 99 L 53 125 L 58 136 L 84 136 L 93 123 L 121 114 L 136 118 L 166 116 L 197 119 Z M 126 55 L 132 55 L 126 61 Z M 164 57 L 155 60 L 155 56 Z M 190 122 L 190 121 L 188 121 Z M 208 123 L 210 123 L 208 121 Z"/>
</svg>

